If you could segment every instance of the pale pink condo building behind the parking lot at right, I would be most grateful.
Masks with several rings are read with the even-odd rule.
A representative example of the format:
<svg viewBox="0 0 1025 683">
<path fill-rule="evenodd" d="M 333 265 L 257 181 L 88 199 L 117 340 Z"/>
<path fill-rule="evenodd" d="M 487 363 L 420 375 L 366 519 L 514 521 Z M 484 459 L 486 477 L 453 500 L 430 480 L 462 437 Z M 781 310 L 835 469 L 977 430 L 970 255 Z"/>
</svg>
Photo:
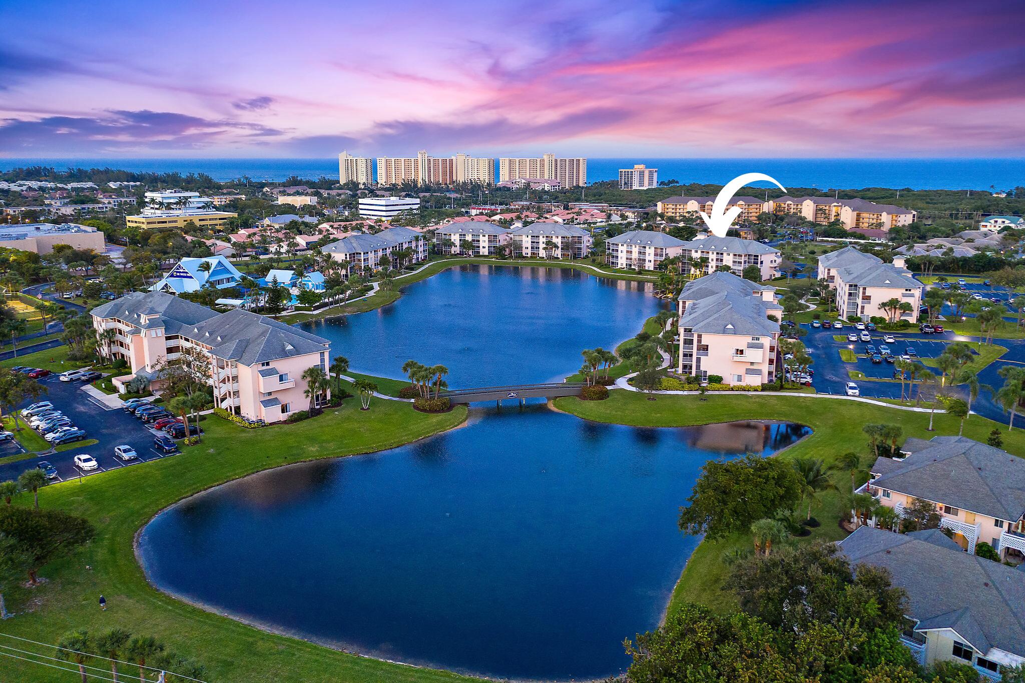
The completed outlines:
<svg viewBox="0 0 1025 683">
<path fill-rule="evenodd" d="M 836 309 L 844 319 L 851 315 L 863 321 L 872 316 L 911 323 L 918 319 L 922 285 L 904 267 L 902 256 L 884 263 L 877 256 L 845 247 L 819 257 L 818 279 L 835 289 Z M 894 299 L 907 304 L 902 306 L 904 310 L 890 307 Z"/>
</svg>

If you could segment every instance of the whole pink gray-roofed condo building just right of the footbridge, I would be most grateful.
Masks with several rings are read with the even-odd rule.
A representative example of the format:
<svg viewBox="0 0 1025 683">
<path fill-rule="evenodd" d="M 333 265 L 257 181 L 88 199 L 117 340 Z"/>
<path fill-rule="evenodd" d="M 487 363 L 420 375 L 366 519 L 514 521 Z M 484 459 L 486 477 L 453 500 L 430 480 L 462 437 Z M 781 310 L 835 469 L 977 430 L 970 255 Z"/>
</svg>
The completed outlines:
<svg viewBox="0 0 1025 683">
<path fill-rule="evenodd" d="M 713 272 L 692 280 L 678 297 L 680 362 L 676 371 L 726 384 L 761 385 L 776 379 L 782 307 L 775 288 Z"/>
</svg>

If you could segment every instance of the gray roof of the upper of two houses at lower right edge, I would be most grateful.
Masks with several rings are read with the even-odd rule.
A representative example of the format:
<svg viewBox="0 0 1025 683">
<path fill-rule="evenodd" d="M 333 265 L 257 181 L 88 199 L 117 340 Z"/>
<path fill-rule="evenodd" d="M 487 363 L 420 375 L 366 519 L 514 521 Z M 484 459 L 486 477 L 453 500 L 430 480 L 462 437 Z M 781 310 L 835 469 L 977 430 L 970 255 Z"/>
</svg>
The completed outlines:
<svg viewBox="0 0 1025 683">
<path fill-rule="evenodd" d="M 1025 514 L 1025 460 L 963 436 L 937 436 L 873 486 L 996 519 Z"/>
</svg>

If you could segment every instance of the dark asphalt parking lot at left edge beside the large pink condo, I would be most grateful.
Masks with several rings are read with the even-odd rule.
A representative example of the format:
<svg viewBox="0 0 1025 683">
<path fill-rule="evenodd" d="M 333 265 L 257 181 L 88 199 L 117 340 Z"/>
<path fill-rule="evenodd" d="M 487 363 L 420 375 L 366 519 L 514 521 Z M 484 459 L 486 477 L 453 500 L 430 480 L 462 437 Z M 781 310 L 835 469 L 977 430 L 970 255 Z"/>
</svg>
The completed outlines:
<svg viewBox="0 0 1025 683">
<path fill-rule="evenodd" d="M 50 375 L 39 381 L 47 388 L 47 394 L 42 396 L 40 400 L 48 400 L 53 403 L 56 410 L 71 418 L 75 426 L 85 430 L 87 439 L 94 438 L 98 442 L 92 445 L 78 446 L 71 451 L 0 465 L 0 481 L 16 479 L 22 472 L 36 467 L 40 461 L 52 464 L 57 470 L 58 480 L 65 481 L 109 469 L 131 467 L 141 462 L 165 457 L 153 445 L 154 436 L 159 432 L 150 429 L 126 411 L 120 408 L 111 408 L 93 398 L 82 391 L 80 382 L 61 382 L 56 375 Z M 34 401 L 27 401 L 26 405 L 31 402 Z M 115 457 L 114 446 L 122 444 L 132 446 L 138 454 L 138 459 L 124 462 Z M 0 446 L 2 446 L 0 457 L 24 452 L 16 444 L 12 446 L 10 443 L 2 443 Z M 75 456 L 83 453 L 89 454 L 96 460 L 98 467 L 95 470 L 85 472 L 75 466 Z"/>
</svg>

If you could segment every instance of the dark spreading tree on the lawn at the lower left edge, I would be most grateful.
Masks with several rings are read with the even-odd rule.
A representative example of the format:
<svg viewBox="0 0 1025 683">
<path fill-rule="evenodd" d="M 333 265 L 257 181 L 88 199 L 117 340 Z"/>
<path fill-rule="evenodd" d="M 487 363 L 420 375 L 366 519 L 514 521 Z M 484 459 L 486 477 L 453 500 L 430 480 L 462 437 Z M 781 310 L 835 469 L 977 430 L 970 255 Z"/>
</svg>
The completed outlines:
<svg viewBox="0 0 1025 683">
<path fill-rule="evenodd" d="M 84 517 L 59 510 L 5 506 L 0 508 L 0 533 L 13 539 L 31 555 L 28 573 L 35 585 L 39 583 L 36 574 L 40 567 L 92 541 L 96 529 Z"/>
</svg>

